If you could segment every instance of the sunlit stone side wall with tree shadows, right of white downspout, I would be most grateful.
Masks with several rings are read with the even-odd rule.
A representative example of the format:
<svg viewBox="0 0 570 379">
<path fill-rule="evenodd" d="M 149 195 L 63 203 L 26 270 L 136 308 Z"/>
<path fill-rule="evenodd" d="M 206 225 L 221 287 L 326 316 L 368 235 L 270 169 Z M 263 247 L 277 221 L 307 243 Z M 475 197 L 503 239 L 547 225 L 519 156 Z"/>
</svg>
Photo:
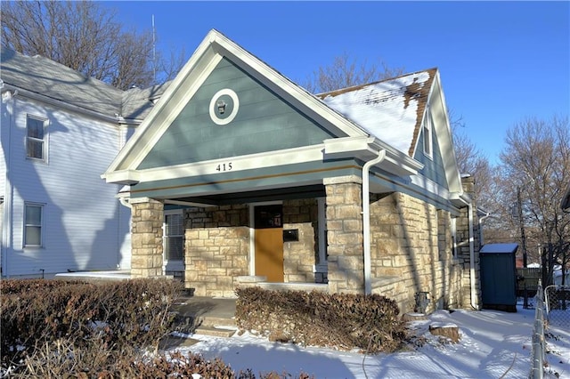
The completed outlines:
<svg viewBox="0 0 570 379">
<path fill-rule="evenodd" d="M 371 199 L 372 282 L 384 283 L 373 293 L 394 299 L 402 312 L 415 310 L 420 292 L 428 293 L 428 311 L 455 302 L 450 214 L 403 193 Z"/>
</svg>

